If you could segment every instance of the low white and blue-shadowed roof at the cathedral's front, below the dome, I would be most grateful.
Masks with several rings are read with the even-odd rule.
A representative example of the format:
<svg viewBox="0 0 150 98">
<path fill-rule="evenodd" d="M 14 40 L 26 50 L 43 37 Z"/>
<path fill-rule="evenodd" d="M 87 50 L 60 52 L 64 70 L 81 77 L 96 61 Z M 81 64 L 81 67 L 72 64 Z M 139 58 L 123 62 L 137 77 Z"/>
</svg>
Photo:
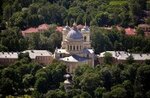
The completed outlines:
<svg viewBox="0 0 150 98">
<path fill-rule="evenodd" d="M 69 57 L 60 58 L 60 60 L 65 62 L 85 62 L 88 59 L 85 57 L 80 57 L 78 55 L 71 55 Z"/>
</svg>

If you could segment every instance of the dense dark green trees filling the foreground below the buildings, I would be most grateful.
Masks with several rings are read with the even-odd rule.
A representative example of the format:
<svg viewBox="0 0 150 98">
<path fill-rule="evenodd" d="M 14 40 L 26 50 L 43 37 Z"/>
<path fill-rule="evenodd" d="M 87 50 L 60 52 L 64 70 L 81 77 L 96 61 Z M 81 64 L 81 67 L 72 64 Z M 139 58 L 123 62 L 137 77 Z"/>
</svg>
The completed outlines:
<svg viewBox="0 0 150 98">
<path fill-rule="evenodd" d="M 34 98 L 149 98 L 150 65 L 104 64 L 92 68 L 79 66 L 68 92 L 63 81 L 66 66 L 55 61 L 42 67 L 30 61 L 28 54 L 0 69 L 0 96 L 28 95 Z M 107 62 L 106 62 L 107 63 Z"/>
</svg>

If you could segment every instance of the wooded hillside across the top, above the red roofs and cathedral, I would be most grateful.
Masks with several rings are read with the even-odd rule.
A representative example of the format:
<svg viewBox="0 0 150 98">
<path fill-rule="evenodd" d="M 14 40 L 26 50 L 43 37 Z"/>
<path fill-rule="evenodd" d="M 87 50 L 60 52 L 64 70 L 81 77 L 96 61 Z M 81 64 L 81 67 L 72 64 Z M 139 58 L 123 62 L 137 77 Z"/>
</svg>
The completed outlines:
<svg viewBox="0 0 150 98">
<path fill-rule="evenodd" d="M 146 0 L 9 0 L 2 1 L 1 21 L 25 29 L 42 23 L 71 25 L 137 25 Z M 7 22 L 7 23 L 6 23 Z"/>
</svg>

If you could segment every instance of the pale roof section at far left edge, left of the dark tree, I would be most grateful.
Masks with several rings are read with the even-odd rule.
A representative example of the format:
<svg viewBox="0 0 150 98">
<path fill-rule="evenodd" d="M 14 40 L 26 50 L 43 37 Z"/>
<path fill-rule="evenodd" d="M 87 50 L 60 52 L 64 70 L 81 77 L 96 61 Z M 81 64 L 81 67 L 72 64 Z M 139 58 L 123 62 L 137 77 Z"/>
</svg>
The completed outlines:
<svg viewBox="0 0 150 98">
<path fill-rule="evenodd" d="M 0 52 L 0 58 L 18 59 L 17 52 Z"/>
</svg>

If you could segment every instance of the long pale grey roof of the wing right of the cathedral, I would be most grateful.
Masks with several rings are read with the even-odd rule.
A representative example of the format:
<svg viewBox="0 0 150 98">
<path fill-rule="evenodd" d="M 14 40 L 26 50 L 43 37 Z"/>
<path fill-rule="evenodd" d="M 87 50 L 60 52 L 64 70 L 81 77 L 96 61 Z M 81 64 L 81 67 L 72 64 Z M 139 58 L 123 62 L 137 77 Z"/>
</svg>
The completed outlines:
<svg viewBox="0 0 150 98">
<path fill-rule="evenodd" d="M 125 52 L 125 51 L 106 51 L 112 54 L 112 57 L 118 59 L 118 60 L 126 60 L 127 57 L 131 55 L 131 53 Z M 104 57 L 104 53 L 100 53 L 99 57 Z M 150 54 L 138 54 L 138 53 L 132 53 L 132 56 L 134 60 L 150 60 Z"/>
</svg>

